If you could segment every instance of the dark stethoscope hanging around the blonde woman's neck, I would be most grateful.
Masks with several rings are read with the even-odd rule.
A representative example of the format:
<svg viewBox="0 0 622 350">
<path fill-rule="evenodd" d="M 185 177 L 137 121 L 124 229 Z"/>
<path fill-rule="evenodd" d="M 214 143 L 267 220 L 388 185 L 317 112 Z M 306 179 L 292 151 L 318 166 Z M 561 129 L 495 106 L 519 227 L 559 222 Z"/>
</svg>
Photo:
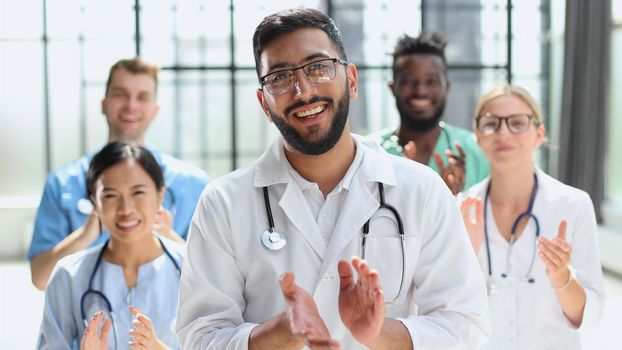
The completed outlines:
<svg viewBox="0 0 622 350">
<path fill-rule="evenodd" d="M 538 237 L 540 237 L 540 222 L 538 222 L 538 218 L 532 213 L 533 204 L 536 200 L 536 194 L 538 193 L 538 177 L 536 176 L 536 174 L 533 175 L 533 180 L 534 182 L 533 182 L 533 188 L 531 190 L 531 197 L 529 198 L 529 206 L 527 207 L 527 210 L 525 212 L 519 214 L 516 220 L 514 220 L 514 224 L 512 225 L 512 231 L 510 232 L 510 241 L 508 245 L 508 252 L 507 252 L 506 262 L 505 262 L 507 272 L 501 273 L 501 277 L 503 277 L 504 279 L 508 278 L 508 273 L 511 268 L 510 256 L 512 255 L 512 247 L 514 246 L 514 242 L 516 241 L 516 229 L 518 227 L 518 224 L 525 217 L 527 218 L 527 220 L 532 218 L 536 224 L 534 248 L 531 254 L 531 262 L 529 263 L 529 270 L 527 270 L 527 273 L 522 278 L 523 281 L 527 281 L 531 284 L 533 284 L 536 281 L 535 278 L 531 276 L 531 272 L 533 270 L 533 264 L 536 260 L 536 249 L 537 249 L 536 244 L 538 242 Z M 498 286 L 494 282 L 494 277 L 492 275 L 492 259 L 490 258 L 490 243 L 488 239 L 488 220 L 487 220 L 488 211 L 487 209 L 488 209 L 488 196 L 489 195 L 490 195 L 490 183 L 488 184 L 488 188 L 486 189 L 486 197 L 484 198 L 484 238 L 486 242 L 486 254 L 487 254 L 486 257 L 488 259 L 489 292 L 492 293 L 498 289 Z"/>
</svg>

